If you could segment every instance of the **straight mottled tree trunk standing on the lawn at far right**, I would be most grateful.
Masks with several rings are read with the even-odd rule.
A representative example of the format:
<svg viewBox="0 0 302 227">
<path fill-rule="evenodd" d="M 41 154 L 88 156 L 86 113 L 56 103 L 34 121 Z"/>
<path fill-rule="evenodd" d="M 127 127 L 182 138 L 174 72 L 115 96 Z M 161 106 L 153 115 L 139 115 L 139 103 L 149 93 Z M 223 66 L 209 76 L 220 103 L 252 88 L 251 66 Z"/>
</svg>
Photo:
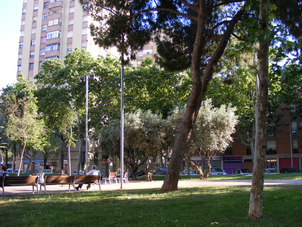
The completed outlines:
<svg viewBox="0 0 302 227">
<path fill-rule="evenodd" d="M 263 15 L 268 14 L 268 1 L 260 0 L 260 29 L 268 31 L 268 22 Z M 262 19 L 262 21 L 261 21 Z M 262 199 L 264 183 L 264 167 L 266 152 L 266 113 L 268 107 L 268 47 L 269 40 L 260 38 L 258 61 L 259 75 L 257 78 L 257 101 L 255 105 L 255 156 L 253 166 L 252 189 L 249 202 L 249 219 L 262 218 Z"/>
</svg>

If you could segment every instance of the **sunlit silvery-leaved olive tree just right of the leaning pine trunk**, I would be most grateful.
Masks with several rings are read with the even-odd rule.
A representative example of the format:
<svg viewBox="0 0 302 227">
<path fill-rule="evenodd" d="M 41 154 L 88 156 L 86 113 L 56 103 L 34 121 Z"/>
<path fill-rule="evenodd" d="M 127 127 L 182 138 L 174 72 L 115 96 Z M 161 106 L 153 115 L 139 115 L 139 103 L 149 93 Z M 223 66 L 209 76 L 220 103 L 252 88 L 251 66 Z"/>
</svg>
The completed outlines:
<svg viewBox="0 0 302 227">
<path fill-rule="evenodd" d="M 211 100 L 205 100 L 198 113 L 195 127 L 185 154 L 185 159 L 192 169 L 200 174 L 200 179 L 207 179 L 210 172 L 210 158 L 223 152 L 233 141 L 231 137 L 238 122 L 235 107 L 221 105 L 213 107 Z M 201 162 L 191 159 L 192 153 L 198 151 Z M 203 173 L 201 166 L 206 161 L 207 169 Z"/>
</svg>

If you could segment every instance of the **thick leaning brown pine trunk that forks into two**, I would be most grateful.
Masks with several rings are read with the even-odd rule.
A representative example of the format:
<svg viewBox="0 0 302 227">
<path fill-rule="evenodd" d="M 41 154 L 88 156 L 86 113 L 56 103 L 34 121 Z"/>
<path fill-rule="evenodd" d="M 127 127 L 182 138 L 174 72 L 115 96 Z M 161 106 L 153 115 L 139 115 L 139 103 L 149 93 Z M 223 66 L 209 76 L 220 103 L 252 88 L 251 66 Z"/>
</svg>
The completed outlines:
<svg viewBox="0 0 302 227">
<path fill-rule="evenodd" d="M 221 38 L 216 50 L 212 54 L 206 67 L 204 67 L 204 74 L 201 78 L 200 74 L 200 60 L 202 48 L 205 45 L 205 22 L 206 22 L 206 5 L 205 1 L 199 1 L 198 12 L 198 26 L 194 42 L 194 49 L 192 53 L 191 76 L 192 76 L 192 90 L 188 98 L 185 115 L 182 118 L 176 140 L 172 149 L 171 158 L 167 168 L 166 177 L 162 185 L 163 191 L 176 191 L 178 185 L 179 171 L 181 162 L 185 156 L 186 146 L 191 136 L 191 131 L 195 123 L 201 102 L 207 90 L 207 85 L 212 78 L 214 67 L 216 66 L 219 58 L 223 54 L 224 49 L 230 39 L 231 32 L 242 15 L 243 10 L 239 10 L 234 18 L 230 21 L 223 37 Z"/>
</svg>

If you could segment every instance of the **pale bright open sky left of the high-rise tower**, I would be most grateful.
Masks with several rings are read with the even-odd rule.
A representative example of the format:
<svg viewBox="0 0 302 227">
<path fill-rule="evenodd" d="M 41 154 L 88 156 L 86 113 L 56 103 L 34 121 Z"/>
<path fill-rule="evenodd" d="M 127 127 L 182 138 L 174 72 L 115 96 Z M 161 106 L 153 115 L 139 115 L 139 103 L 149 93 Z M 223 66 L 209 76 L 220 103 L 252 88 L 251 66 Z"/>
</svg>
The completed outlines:
<svg viewBox="0 0 302 227">
<path fill-rule="evenodd" d="M 23 0 L 0 0 L 0 89 L 16 83 Z"/>
</svg>

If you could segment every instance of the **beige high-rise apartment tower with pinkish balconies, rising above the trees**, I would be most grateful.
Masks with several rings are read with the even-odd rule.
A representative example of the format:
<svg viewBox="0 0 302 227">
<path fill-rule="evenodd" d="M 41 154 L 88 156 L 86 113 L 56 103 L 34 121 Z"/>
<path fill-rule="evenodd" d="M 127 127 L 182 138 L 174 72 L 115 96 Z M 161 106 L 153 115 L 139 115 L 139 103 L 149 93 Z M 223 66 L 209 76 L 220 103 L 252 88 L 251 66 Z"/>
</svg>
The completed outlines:
<svg viewBox="0 0 302 227">
<path fill-rule="evenodd" d="M 17 74 L 33 80 L 44 60 L 59 58 L 63 63 L 75 47 L 85 48 L 95 58 L 107 53 L 118 58 L 116 48 L 104 50 L 94 44 L 91 22 L 75 0 L 24 0 Z"/>
</svg>

